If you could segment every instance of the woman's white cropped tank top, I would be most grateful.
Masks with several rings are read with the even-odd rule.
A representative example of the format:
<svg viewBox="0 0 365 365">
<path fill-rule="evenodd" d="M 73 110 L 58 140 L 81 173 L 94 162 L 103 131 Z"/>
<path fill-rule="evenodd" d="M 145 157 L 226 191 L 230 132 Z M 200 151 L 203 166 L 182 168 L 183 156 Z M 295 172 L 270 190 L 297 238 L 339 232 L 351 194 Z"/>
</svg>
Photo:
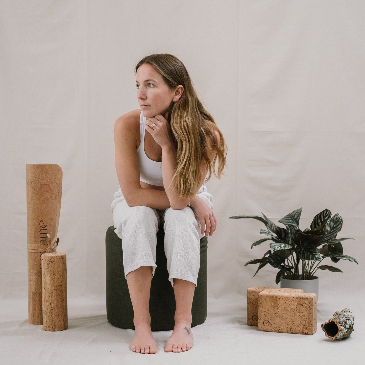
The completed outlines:
<svg viewBox="0 0 365 365">
<path fill-rule="evenodd" d="M 143 183 L 164 186 L 162 181 L 162 162 L 151 160 L 149 157 L 147 157 L 145 152 L 146 117 L 143 116 L 142 112 L 140 122 L 141 142 L 139 143 L 137 150 L 140 180 L 143 181 Z"/>
</svg>

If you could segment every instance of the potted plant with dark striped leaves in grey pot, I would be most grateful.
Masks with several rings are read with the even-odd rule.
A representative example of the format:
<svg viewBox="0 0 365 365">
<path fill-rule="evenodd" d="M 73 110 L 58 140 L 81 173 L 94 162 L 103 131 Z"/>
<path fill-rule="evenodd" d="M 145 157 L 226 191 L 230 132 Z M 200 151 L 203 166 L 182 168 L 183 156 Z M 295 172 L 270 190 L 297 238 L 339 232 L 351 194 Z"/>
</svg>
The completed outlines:
<svg viewBox="0 0 365 365">
<path fill-rule="evenodd" d="M 254 276 L 258 270 L 270 264 L 274 268 L 279 269 L 276 275 L 276 284 L 281 280 L 292 280 L 296 281 L 299 286 L 294 284 L 289 287 L 300 288 L 300 281 L 318 280 L 314 276 L 318 269 L 342 272 L 334 266 L 319 265 L 324 258 L 329 257 L 333 262 L 349 260 L 358 264 L 353 257 L 343 254 L 342 241 L 353 238 L 337 238 L 337 233 L 342 228 L 342 218 L 340 215 L 336 214 L 331 217 L 331 212 L 325 209 L 314 217 L 310 228 L 301 231 L 299 228 L 301 211 L 302 208 L 297 209 L 279 220 L 280 223 L 284 224 L 285 228 L 278 227 L 264 214 L 262 214 L 262 217 L 248 215 L 229 217 L 234 219 L 257 219 L 266 226 L 266 230 L 261 229 L 260 233 L 268 237 L 254 242 L 251 245 L 251 249 L 262 242 L 272 241 L 270 243 L 270 250 L 266 251 L 261 258 L 247 261 L 245 264 L 245 266 L 259 264 Z M 283 285 L 283 283 L 281 283 L 281 286 L 288 287 Z"/>
</svg>

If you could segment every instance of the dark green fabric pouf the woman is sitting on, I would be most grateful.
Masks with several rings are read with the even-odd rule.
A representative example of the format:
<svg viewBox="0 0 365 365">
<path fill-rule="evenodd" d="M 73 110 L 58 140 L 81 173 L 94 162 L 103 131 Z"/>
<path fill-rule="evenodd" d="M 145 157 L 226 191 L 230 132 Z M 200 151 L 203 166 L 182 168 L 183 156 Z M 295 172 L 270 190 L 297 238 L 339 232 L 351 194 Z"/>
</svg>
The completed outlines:
<svg viewBox="0 0 365 365">
<path fill-rule="evenodd" d="M 114 232 L 114 226 L 105 236 L 107 319 L 116 327 L 131 328 L 133 307 L 127 280 L 124 277 L 122 240 Z M 164 230 L 157 232 L 156 269 L 151 282 L 150 315 L 152 331 L 169 331 L 174 328 L 175 296 L 169 281 L 164 250 Z M 200 269 L 192 304 L 192 324 L 201 324 L 207 318 L 207 245 L 208 238 L 200 240 Z"/>
</svg>

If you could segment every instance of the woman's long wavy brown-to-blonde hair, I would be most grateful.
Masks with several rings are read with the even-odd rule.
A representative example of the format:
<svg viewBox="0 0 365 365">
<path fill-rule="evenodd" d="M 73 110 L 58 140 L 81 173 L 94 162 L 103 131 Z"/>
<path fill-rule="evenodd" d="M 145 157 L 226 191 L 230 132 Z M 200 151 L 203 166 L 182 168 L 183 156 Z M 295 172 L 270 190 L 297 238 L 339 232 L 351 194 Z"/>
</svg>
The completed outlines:
<svg viewBox="0 0 365 365">
<path fill-rule="evenodd" d="M 208 113 L 192 85 L 191 78 L 184 64 L 172 54 L 151 54 L 138 62 L 137 69 L 143 64 L 151 65 L 170 88 L 183 85 L 180 99 L 173 104 L 170 126 L 177 149 L 177 165 L 172 178 L 179 199 L 191 198 L 199 190 L 201 179 L 200 165 L 207 168 L 208 181 L 212 172 L 217 178 L 224 174 L 226 166 L 227 145 L 222 132 Z M 219 134 L 219 143 L 215 132 Z M 212 161 L 208 155 L 207 137 L 212 141 L 216 154 Z M 215 164 L 218 160 L 218 173 Z"/>
</svg>

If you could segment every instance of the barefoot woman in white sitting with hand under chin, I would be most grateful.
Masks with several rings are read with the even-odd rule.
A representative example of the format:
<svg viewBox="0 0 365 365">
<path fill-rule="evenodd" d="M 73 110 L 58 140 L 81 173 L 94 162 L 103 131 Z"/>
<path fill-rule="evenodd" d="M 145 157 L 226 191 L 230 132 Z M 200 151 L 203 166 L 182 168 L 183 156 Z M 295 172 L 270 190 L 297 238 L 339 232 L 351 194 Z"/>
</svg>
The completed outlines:
<svg viewBox="0 0 365 365">
<path fill-rule="evenodd" d="M 191 307 L 200 265 L 199 239 L 216 228 L 212 196 L 203 182 L 212 172 L 217 176 L 217 160 L 220 178 L 226 145 L 178 58 L 149 55 L 138 62 L 135 73 L 142 111 L 131 111 L 115 122 L 120 189 L 111 206 L 115 232 L 123 240 L 124 274 L 134 310 L 131 349 L 157 351 L 149 296 L 161 222 L 176 299 L 175 326 L 165 351 L 187 351 L 193 345 Z"/>
</svg>

